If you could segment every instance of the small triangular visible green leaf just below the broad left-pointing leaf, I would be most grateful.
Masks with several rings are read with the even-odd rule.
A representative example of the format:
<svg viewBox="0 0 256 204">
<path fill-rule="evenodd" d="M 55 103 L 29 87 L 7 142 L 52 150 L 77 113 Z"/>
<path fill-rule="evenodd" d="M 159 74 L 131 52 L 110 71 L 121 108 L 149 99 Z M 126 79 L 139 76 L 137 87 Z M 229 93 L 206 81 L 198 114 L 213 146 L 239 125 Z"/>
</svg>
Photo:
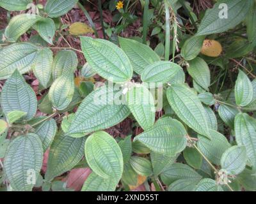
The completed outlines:
<svg viewBox="0 0 256 204">
<path fill-rule="evenodd" d="M 157 177 L 166 166 L 170 166 L 175 162 L 177 156 L 168 156 L 165 154 L 159 154 L 157 152 L 150 152 L 150 159 L 152 163 L 154 176 Z"/>
</svg>

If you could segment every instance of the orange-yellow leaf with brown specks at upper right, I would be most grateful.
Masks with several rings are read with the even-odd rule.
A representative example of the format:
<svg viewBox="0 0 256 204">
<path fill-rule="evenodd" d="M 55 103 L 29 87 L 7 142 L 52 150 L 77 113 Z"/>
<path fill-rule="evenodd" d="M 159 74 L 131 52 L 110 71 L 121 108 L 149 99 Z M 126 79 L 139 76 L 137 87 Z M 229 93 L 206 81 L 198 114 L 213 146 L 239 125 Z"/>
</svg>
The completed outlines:
<svg viewBox="0 0 256 204">
<path fill-rule="evenodd" d="M 204 40 L 201 53 L 209 57 L 218 57 L 222 52 L 221 44 L 216 40 Z"/>
</svg>

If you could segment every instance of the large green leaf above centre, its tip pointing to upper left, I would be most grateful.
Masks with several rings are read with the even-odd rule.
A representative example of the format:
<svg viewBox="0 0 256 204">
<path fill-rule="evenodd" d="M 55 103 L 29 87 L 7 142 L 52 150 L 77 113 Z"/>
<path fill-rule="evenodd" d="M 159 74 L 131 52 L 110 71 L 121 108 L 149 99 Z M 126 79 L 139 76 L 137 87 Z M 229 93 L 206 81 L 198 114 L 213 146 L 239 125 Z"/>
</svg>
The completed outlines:
<svg viewBox="0 0 256 204">
<path fill-rule="evenodd" d="M 121 48 L 102 39 L 80 37 L 84 57 L 93 70 L 111 82 L 127 82 L 132 78 L 132 65 Z"/>
</svg>

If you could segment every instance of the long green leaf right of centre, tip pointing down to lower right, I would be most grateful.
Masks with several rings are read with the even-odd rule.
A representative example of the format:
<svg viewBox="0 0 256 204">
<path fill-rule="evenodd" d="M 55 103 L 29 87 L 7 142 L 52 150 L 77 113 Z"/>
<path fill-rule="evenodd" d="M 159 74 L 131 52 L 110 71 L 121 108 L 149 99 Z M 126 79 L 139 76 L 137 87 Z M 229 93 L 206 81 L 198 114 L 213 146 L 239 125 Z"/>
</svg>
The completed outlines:
<svg viewBox="0 0 256 204">
<path fill-rule="evenodd" d="M 211 138 L 202 103 L 186 85 L 175 84 L 167 89 L 167 99 L 174 112 L 189 128 Z"/>
</svg>

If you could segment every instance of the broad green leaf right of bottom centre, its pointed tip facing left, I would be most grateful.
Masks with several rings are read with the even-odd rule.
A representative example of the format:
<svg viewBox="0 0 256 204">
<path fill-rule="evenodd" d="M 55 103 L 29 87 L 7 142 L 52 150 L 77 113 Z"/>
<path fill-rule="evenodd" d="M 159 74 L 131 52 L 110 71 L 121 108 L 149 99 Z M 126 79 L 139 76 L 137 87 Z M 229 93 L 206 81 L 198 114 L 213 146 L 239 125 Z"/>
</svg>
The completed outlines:
<svg viewBox="0 0 256 204">
<path fill-rule="evenodd" d="M 186 129 L 178 120 L 164 117 L 151 129 L 136 136 L 134 142 L 139 141 L 154 152 L 175 156 L 185 149 L 186 135 Z"/>
</svg>

